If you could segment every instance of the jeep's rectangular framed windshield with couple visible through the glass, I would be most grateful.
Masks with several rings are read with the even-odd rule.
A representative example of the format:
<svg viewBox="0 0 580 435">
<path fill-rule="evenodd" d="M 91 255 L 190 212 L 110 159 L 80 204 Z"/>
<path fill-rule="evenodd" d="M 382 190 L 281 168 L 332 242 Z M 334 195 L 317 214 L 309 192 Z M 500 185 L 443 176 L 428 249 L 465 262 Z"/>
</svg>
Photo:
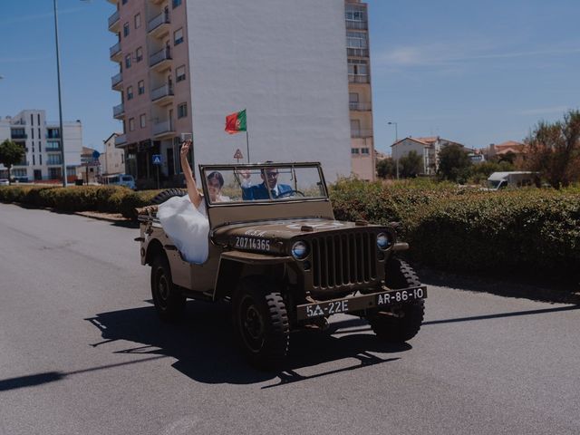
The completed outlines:
<svg viewBox="0 0 580 435">
<path fill-rule="evenodd" d="M 202 166 L 208 205 L 328 198 L 318 163 Z"/>
</svg>

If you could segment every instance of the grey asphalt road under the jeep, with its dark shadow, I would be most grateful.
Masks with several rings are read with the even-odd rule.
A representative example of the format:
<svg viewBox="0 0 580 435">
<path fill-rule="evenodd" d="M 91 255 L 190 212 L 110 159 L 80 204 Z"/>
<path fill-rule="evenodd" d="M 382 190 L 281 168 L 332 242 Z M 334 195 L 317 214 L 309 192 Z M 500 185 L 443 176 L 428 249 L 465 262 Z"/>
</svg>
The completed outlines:
<svg viewBox="0 0 580 435">
<path fill-rule="evenodd" d="M 0 204 L 0 433 L 580 433 L 575 306 L 430 286 L 408 345 L 350 317 L 249 368 L 227 304 L 160 324 L 137 230 Z"/>
</svg>

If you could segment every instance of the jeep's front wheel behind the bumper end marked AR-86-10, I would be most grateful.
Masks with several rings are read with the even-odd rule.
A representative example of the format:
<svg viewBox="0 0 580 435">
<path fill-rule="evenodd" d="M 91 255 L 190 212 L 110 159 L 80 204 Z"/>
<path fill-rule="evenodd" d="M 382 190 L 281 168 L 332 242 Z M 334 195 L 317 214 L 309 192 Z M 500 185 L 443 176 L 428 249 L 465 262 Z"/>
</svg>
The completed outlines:
<svg viewBox="0 0 580 435">
<path fill-rule="evenodd" d="M 389 260 L 385 272 L 386 285 L 393 290 L 420 285 L 412 267 L 398 258 Z M 421 300 L 402 304 L 393 312 L 374 312 L 367 319 L 379 338 L 391 343 L 403 343 L 419 333 L 424 314 L 425 304 Z"/>
</svg>

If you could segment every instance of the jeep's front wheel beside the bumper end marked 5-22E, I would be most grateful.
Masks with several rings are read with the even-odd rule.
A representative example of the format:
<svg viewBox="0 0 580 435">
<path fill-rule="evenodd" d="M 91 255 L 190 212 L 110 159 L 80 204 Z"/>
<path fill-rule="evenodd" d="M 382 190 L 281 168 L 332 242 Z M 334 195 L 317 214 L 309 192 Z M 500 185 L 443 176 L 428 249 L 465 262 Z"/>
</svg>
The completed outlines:
<svg viewBox="0 0 580 435">
<path fill-rule="evenodd" d="M 274 283 L 262 277 L 240 282 L 233 298 L 234 329 L 248 360 L 259 369 L 274 369 L 288 352 L 288 314 Z"/>
</svg>

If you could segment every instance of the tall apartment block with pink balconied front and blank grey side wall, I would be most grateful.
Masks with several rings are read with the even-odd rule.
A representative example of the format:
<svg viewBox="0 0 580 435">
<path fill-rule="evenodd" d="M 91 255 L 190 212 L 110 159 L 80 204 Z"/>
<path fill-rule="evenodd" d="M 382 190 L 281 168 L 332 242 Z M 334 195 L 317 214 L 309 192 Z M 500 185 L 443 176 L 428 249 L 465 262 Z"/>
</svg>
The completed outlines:
<svg viewBox="0 0 580 435">
<path fill-rule="evenodd" d="M 321 161 L 330 181 L 351 174 L 344 0 L 109 1 L 115 143 L 138 181 L 153 178 L 153 155 L 162 179 L 179 179 L 184 132 L 194 166 L 235 163 L 239 149 L 243 161 Z M 243 109 L 249 156 L 246 135 L 224 131 Z"/>
</svg>

